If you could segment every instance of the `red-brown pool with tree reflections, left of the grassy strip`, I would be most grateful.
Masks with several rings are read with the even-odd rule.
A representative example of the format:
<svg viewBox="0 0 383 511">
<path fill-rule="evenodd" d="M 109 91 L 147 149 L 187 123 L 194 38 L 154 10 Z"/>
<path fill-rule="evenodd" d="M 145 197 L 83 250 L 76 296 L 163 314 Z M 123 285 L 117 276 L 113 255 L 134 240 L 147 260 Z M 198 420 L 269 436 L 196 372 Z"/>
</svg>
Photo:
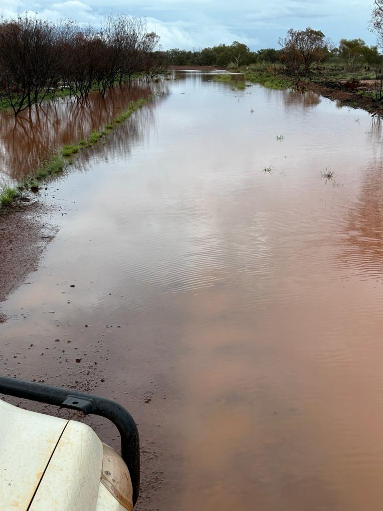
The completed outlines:
<svg viewBox="0 0 383 511">
<path fill-rule="evenodd" d="M 158 88 L 158 85 L 156 84 Z M 150 94 L 147 83 L 114 87 L 105 98 L 91 94 L 86 102 L 63 98 L 34 106 L 15 119 L 0 115 L 0 176 L 22 179 L 63 144 L 77 143 L 101 129 L 129 101 Z"/>
</svg>

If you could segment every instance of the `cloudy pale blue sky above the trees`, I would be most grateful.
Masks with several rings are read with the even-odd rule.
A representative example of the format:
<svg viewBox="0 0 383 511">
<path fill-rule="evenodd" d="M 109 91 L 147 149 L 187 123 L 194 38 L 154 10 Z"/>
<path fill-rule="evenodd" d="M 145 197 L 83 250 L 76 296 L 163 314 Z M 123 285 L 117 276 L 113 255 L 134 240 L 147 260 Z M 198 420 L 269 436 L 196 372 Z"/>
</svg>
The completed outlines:
<svg viewBox="0 0 383 511">
<path fill-rule="evenodd" d="M 361 37 L 375 44 L 368 30 L 373 0 L 0 0 L 1 12 L 37 12 L 51 20 L 71 17 L 100 24 L 101 18 L 127 13 L 145 16 L 161 36 L 162 47 L 203 48 L 237 40 L 251 50 L 278 46 L 278 37 L 293 27 L 322 30 L 334 42 Z"/>
</svg>

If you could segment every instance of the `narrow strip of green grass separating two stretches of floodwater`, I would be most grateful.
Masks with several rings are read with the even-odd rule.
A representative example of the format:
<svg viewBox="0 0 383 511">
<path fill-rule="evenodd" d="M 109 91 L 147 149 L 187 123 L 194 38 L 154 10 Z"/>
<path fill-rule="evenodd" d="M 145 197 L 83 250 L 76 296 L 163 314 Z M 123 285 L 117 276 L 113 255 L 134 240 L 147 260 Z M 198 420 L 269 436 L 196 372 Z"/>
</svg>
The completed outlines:
<svg viewBox="0 0 383 511">
<path fill-rule="evenodd" d="M 73 156 L 83 149 L 94 147 L 102 138 L 108 136 L 114 131 L 117 126 L 123 123 L 132 113 L 148 103 L 151 96 L 140 98 L 137 101 L 131 101 L 127 110 L 119 113 L 114 117 L 110 123 L 105 125 L 102 130 L 95 130 L 85 140 L 80 140 L 77 144 L 64 145 L 57 153 L 45 161 L 41 161 L 35 172 L 33 172 L 27 179 L 18 183 L 16 187 L 4 185 L 0 187 L 0 211 L 4 212 L 7 207 L 17 202 L 22 195 L 23 190 L 37 192 L 40 188 L 42 181 L 47 181 L 50 178 L 61 174 L 65 168 L 73 161 Z"/>
</svg>

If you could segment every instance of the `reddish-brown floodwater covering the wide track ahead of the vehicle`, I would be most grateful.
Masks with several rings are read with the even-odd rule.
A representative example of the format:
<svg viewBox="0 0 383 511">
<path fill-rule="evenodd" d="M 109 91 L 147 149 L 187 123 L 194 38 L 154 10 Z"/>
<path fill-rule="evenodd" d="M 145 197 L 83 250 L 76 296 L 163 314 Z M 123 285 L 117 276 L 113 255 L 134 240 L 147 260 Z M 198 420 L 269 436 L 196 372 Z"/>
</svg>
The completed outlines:
<svg viewBox="0 0 383 511">
<path fill-rule="evenodd" d="M 138 509 L 380 509 L 379 123 L 209 74 L 165 89 L 43 197 L 60 230 L 4 304 L 2 373 L 126 406 Z"/>
</svg>

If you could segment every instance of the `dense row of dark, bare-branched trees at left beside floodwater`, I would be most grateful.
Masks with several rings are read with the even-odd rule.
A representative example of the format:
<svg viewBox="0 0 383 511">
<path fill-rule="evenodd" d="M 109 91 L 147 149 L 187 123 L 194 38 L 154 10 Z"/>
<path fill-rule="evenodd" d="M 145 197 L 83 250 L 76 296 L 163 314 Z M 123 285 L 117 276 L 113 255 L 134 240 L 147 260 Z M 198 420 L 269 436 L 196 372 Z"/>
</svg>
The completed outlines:
<svg viewBox="0 0 383 511">
<path fill-rule="evenodd" d="M 0 21 L 0 100 L 15 115 L 60 88 L 78 100 L 101 96 L 133 75 L 164 71 L 159 36 L 145 19 L 107 16 L 100 30 L 72 20 L 57 23 L 19 15 Z"/>
</svg>

